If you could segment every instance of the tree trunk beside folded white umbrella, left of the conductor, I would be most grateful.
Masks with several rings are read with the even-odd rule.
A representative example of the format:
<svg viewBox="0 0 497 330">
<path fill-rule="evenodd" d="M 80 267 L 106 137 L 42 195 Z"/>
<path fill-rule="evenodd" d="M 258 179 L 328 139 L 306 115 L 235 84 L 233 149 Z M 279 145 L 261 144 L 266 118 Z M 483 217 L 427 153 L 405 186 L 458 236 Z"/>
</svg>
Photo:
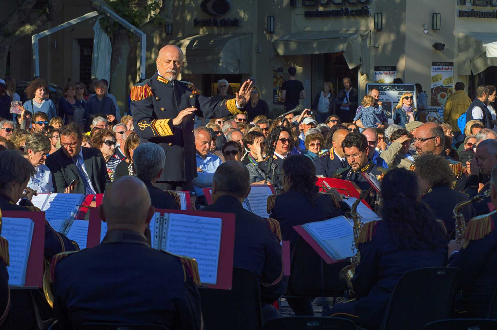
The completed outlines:
<svg viewBox="0 0 497 330">
<path fill-rule="evenodd" d="M 137 38 L 124 28 L 119 28 L 112 34 L 110 89 L 112 95 L 116 97 L 117 105 L 121 110 L 121 116 L 126 111 L 126 104 L 128 103 L 128 78 L 126 73 L 131 43 L 135 39 Z"/>
</svg>

